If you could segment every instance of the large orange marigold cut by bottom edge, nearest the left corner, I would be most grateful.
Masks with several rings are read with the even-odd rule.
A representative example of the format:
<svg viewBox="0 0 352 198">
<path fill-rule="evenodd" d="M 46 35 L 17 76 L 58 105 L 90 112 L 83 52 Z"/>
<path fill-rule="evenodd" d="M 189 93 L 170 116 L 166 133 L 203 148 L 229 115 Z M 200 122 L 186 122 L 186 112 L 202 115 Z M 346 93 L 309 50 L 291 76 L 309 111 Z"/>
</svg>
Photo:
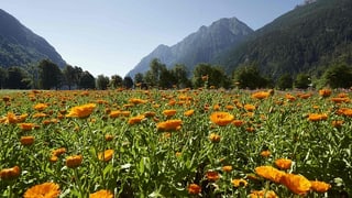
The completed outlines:
<svg viewBox="0 0 352 198">
<path fill-rule="evenodd" d="M 55 183 L 44 183 L 35 185 L 24 193 L 24 198 L 56 198 L 59 196 L 59 186 Z"/>
</svg>

